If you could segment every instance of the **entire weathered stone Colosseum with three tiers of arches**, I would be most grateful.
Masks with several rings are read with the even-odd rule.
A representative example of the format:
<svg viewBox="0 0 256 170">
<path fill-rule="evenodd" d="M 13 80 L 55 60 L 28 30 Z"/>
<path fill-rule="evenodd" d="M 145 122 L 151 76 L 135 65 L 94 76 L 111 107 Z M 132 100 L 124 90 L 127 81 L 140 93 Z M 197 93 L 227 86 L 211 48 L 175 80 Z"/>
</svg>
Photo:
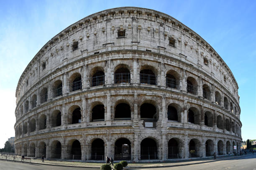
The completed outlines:
<svg viewBox="0 0 256 170">
<path fill-rule="evenodd" d="M 233 73 L 155 10 L 118 7 L 70 25 L 29 62 L 15 95 L 19 155 L 163 161 L 240 150 Z"/>
</svg>

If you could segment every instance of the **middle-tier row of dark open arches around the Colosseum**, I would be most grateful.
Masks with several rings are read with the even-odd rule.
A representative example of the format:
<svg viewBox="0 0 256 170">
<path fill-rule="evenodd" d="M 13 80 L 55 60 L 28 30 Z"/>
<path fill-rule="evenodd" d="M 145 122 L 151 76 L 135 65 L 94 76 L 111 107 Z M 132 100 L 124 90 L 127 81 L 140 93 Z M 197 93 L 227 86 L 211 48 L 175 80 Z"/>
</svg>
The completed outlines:
<svg viewBox="0 0 256 170">
<path fill-rule="evenodd" d="M 101 102 L 95 102 L 92 110 L 90 111 L 90 121 L 105 121 L 106 109 L 105 105 Z M 182 107 L 180 107 L 176 103 L 171 103 L 168 105 L 166 110 L 166 117 L 169 121 L 175 122 L 182 122 Z M 68 109 L 67 117 L 62 117 L 60 110 L 54 110 L 49 116 L 47 117 L 45 114 L 41 114 L 36 118 L 31 118 L 28 122 L 23 123 L 23 130 L 22 125 L 18 125 L 18 128 L 15 130 L 16 136 L 20 136 L 26 134 L 28 132 L 33 132 L 36 130 L 36 126 L 38 126 L 38 130 L 46 129 L 47 126 L 49 127 L 57 127 L 63 125 L 62 121 L 66 121 L 67 124 L 77 124 L 82 122 L 82 112 L 81 108 L 78 105 L 72 105 Z M 144 121 L 157 121 L 159 119 L 159 109 L 156 105 L 152 103 L 145 102 L 138 108 L 138 114 L 141 120 Z M 117 102 L 114 107 L 113 118 L 114 120 L 131 120 L 131 106 L 125 100 L 121 102 Z M 204 124 L 208 127 L 214 126 L 214 120 L 217 119 L 217 128 L 225 129 L 231 131 L 233 133 L 238 133 L 238 127 L 235 126 L 235 123 L 231 121 L 230 118 L 226 118 L 223 121 L 223 116 L 218 115 L 216 118 L 213 116 L 212 112 L 205 111 L 204 119 L 201 119 L 201 112 L 196 107 L 189 107 L 187 113 L 187 122 L 200 125 L 202 120 Z M 29 124 L 29 127 L 28 127 Z"/>
</svg>

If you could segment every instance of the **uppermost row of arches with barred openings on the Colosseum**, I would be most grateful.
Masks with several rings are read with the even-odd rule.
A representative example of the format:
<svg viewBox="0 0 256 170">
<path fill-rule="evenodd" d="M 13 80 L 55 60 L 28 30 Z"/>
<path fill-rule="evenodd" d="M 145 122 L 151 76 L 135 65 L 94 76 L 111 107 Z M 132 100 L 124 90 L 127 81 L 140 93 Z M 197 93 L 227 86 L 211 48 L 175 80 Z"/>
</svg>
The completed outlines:
<svg viewBox="0 0 256 170">
<path fill-rule="evenodd" d="M 114 71 L 114 83 L 115 84 L 120 84 L 120 83 L 130 83 L 131 82 L 131 72 L 130 68 L 127 65 L 118 65 L 115 68 Z M 140 83 L 141 84 L 148 84 L 148 85 L 157 85 L 157 70 L 152 67 L 152 66 L 144 66 L 140 70 Z M 174 88 L 174 89 L 179 89 L 180 85 L 179 82 L 181 81 L 180 75 L 177 71 L 175 70 L 169 70 L 166 72 L 165 75 L 166 79 L 166 87 Z M 198 94 L 198 82 L 197 80 L 192 77 L 188 76 L 187 77 L 187 92 L 197 95 Z M 95 67 L 92 69 L 92 72 L 90 73 L 90 86 L 99 86 L 99 85 L 104 85 L 105 84 L 105 72 L 103 67 Z M 82 89 L 82 76 L 80 73 L 75 72 L 69 77 L 69 83 L 67 85 L 69 87 L 69 91 L 76 91 Z M 61 96 L 63 93 L 63 83 L 61 80 L 56 80 L 52 87 L 51 87 L 51 93 L 53 97 L 58 97 Z M 217 105 L 224 105 L 226 109 L 230 107 L 230 111 L 234 112 L 237 114 L 237 108 L 236 106 L 233 106 L 233 102 L 230 101 L 230 104 L 228 104 L 228 98 L 224 97 L 224 104 L 222 104 L 222 97 L 220 95 L 220 92 L 215 91 L 214 94 L 211 92 L 211 88 L 207 84 L 202 84 L 202 97 L 207 99 L 207 100 L 212 100 L 212 96 L 215 95 L 215 103 Z M 39 92 L 40 95 L 40 103 L 44 103 L 48 100 L 48 93 L 49 90 L 47 87 L 43 87 L 41 91 Z M 36 94 L 32 95 L 31 97 L 31 108 L 36 107 L 38 97 Z M 29 110 L 29 102 L 26 100 L 24 102 L 25 106 L 25 112 Z M 23 115 L 23 105 L 20 106 L 19 109 L 20 115 Z"/>
</svg>

